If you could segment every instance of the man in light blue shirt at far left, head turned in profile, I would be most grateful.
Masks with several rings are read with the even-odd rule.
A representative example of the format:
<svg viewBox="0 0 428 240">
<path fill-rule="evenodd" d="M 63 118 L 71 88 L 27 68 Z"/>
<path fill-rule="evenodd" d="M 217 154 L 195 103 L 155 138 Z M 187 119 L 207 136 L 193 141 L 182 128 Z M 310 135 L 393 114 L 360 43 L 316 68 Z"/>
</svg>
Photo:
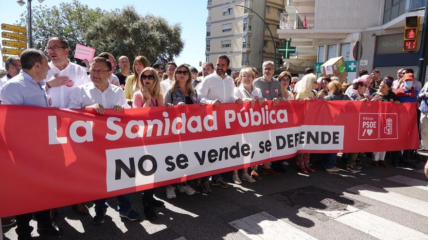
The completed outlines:
<svg viewBox="0 0 428 240">
<path fill-rule="evenodd" d="M 40 83 L 46 78 L 49 70 L 48 59 L 45 54 L 36 49 L 24 50 L 20 56 L 22 71 L 18 76 L 7 81 L 2 89 L 2 104 L 29 105 L 48 108 L 51 99 L 46 95 Z M 19 240 L 32 239 L 30 226 L 33 213 L 17 215 L 17 229 Z M 61 230 L 49 218 L 49 209 L 34 212 L 39 234 L 59 235 Z"/>
</svg>

